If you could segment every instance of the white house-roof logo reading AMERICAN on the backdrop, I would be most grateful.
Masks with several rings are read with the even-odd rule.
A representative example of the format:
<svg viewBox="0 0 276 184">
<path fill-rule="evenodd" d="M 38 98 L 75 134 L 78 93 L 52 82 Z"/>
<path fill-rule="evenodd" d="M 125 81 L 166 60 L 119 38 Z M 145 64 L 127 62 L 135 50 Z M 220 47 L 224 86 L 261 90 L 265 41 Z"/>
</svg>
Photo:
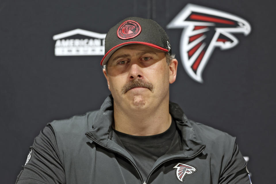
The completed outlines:
<svg viewBox="0 0 276 184">
<path fill-rule="evenodd" d="M 76 34 L 86 37 L 84 39 L 66 39 Z M 55 42 L 56 56 L 73 55 L 104 55 L 104 39 L 106 34 L 87 31 L 83 29 L 74 29 L 53 36 Z"/>
</svg>

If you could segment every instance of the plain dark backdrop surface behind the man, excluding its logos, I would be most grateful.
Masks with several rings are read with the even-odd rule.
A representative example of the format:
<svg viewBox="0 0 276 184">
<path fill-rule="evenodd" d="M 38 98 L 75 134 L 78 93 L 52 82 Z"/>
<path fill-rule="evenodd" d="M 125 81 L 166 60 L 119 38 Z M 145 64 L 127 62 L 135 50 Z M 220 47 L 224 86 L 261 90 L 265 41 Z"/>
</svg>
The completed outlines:
<svg viewBox="0 0 276 184">
<path fill-rule="evenodd" d="M 102 56 L 54 56 L 53 35 L 76 28 L 106 33 L 127 16 L 165 27 L 187 4 L 240 16 L 252 32 L 235 34 L 233 49 L 215 49 L 204 83 L 193 81 L 179 57 L 182 29 L 166 29 L 179 60 L 170 100 L 188 118 L 237 137 L 253 183 L 273 183 L 275 170 L 275 2 L 219 0 L 0 1 L 1 183 L 14 183 L 34 137 L 55 119 L 98 109 L 110 94 Z"/>
</svg>

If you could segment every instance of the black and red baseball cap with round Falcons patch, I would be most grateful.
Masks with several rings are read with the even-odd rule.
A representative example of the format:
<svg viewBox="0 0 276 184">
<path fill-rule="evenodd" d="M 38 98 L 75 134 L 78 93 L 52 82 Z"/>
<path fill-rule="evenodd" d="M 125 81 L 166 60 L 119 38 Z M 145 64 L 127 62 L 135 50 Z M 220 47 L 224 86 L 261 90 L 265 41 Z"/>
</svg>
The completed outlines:
<svg viewBox="0 0 276 184">
<path fill-rule="evenodd" d="M 157 22 L 128 17 L 118 22 L 106 34 L 101 65 L 105 65 L 116 50 L 129 44 L 147 45 L 171 54 L 168 35 Z"/>
</svg>

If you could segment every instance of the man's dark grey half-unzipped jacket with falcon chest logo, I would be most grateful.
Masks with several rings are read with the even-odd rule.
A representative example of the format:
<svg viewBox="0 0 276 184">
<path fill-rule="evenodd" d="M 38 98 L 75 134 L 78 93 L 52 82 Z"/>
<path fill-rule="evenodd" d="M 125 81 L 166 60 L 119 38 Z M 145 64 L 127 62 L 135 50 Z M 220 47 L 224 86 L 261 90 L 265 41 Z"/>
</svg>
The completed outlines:
<svg viewBox="0 0 276 184">
<path fill-rule="evenodd" d="M 142 181 L 135 161 L 123 149 L 122 143 L 112 130 L 113 99 L 110 95 L 100 110 L 51 122 L 49 125 L 54 130 L 57 149 L 54 149 L 54 154 L 43 154 L 44 150 L 43 153 L 39 150 L 41 147 L 46 150 L 45 152 L 53 148 L 41 146 L 38 149 L 34 144 L 31 149 L 39 153 L 41 164 L 26 164 L 24 167 L 28 169 L 24 168 L 21 173 L 28 172 L 28 178 L 24 177 L 26 173 L 20 173 L 17 183 L 46 181 L 30 179 L 33 175 L 41 178 L 50 177 L 47 184 L 179 184 L 184 181 L 186 184 L 250 184 L 246 161 L 239 152 L 234 137 L 188 120 L 181 108 L 172 102 L 170 114 L 176 122 L 178 131 L 174 141 L 180 144 L 181 151 L 161 156 L 154 164 L 147 181 Z M 39 136 L 36 139 L 39 139 Z M 51 157 L 51 162 L 47 161 L 47 157 Z M 36 167 L 39 167 L 39 170 L 45 167 L 47 172 L 31 174 L 36 172 Z"/>
</svg>

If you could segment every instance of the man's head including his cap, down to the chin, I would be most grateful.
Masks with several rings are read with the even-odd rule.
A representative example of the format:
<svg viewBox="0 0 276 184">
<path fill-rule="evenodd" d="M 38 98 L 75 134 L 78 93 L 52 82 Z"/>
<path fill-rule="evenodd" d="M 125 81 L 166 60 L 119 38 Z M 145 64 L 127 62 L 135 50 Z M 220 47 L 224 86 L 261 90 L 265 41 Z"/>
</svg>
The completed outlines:
<svg viewBox="0 0 276 184">
<path fill-rule="evenodd" d="M 130 17 L 112 27 L 101 65 L 106 65 L 103 72 L 114 107 L 147 109 L 168 102 L 177 60 L 166 32 L 155 21 Z"/>
</svg>

